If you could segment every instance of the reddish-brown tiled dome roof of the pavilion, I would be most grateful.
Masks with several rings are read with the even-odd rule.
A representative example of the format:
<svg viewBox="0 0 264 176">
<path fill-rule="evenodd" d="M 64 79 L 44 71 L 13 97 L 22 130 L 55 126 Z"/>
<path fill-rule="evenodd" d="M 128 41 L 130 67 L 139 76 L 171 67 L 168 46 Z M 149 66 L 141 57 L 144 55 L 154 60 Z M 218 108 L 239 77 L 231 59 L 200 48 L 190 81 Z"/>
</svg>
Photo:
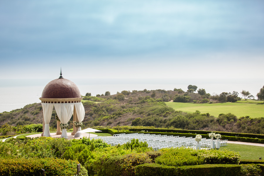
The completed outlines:
<svg viewBox="0 0 264 176">
<path fill-rule="evenodd" d="M 62 76 L 49 82 L 41 95 L 41 98 L 80 98 L 79 88 L 69 79 Z"/>
</svg>

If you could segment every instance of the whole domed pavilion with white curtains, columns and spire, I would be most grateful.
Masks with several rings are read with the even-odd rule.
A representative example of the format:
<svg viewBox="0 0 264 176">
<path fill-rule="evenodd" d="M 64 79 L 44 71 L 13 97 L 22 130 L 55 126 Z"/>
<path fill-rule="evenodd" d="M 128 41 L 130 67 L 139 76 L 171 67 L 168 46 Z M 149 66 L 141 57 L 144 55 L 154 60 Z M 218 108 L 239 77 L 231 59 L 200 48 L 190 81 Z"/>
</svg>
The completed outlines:
<svg viewBox="0 0 264 176">
<path fill-rule="evenodd" d="M 73 115 L 73 123 L 82 122 L 84 119 L 85 111 L 81 100 L 79 88 L 69 79 L 60 77 L 50 81 L 44 88 L 41 98 L 41 105 L 43 108 L 43 133 L 41 136 L 49 137 L 50 135 L 50 119 L 55 107 L 59 121 L 57 120 L 57 135 L 61 134 L 61 138 L 68 138 L 66 126 Z M 62 131 L 61 127 L 62 126 Z M 81 127 L 73 125 L 72 135 L 79 137 Z"/>
</svg>

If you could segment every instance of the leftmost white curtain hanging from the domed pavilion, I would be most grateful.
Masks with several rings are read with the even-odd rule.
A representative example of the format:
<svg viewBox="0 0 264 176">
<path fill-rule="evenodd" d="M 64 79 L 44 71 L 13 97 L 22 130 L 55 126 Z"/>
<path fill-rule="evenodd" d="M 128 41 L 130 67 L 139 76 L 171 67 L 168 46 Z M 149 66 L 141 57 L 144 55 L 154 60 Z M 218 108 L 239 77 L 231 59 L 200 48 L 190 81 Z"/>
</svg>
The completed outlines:
<svg viewBox="0 0 264 176">
<path fill-rule="evenodd" d="M 43 136 L 45 137 L 50 137 L 50 119 L 51 119 L 51 114 L 53 110 L 53 104 L 50 103 L 41 103 L 42 108 L 43 108 L 43 117 L 44 117 L 44 134 Z"/>
</svg>

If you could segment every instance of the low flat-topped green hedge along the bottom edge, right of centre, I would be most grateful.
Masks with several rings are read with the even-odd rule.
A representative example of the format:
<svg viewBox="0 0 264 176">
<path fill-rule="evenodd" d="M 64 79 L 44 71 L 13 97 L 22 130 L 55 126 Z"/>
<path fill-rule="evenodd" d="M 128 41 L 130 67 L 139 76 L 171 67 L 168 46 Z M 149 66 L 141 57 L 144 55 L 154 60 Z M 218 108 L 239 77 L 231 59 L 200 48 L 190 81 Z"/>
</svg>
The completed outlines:
<svg viewBox="0 0 264 176">
<path fill-rule="evenodd" d="M 238 176 L 240 170 L 240 165 L 233 164 L 206 164 L 181 167 L 143 164 L 135 167 L 137 176 Z"/>
</svg>

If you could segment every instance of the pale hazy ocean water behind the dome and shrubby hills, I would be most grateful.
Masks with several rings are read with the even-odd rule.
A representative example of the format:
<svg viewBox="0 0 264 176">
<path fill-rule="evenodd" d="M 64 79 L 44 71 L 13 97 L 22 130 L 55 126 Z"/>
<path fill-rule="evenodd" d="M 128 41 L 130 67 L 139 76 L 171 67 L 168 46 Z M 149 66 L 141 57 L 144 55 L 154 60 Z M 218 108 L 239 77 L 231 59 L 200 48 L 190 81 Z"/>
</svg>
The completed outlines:
<svg viewBox="0 0 264 176">
<path fill-rule="evenodd" d="M 210 94 L 222 92 L 240 93 L 243 89 L 249 91 L 256 99 L 256 94 L 263 87 L 263 80 L 194 80 L 194 79 L 70 79 L 78 87 L 82 95 L 90 92 L 92 96 L 104 94 L 106 91 L 111 94 L 122 90 L 173 90 L 181 88 L 187 90 L 189 84 L 196 85 L 198 89 L 205 89 Z M 25 79 L 25 80 L 0 80 L 0 113 L 23 108 L 27 104 L 40 103 L 42 91 L 48 79 Z M 198 90 L 197 89 L 197 90 Z M 242 97 L 241 94 L 239 94 Z"/>
</svg>

